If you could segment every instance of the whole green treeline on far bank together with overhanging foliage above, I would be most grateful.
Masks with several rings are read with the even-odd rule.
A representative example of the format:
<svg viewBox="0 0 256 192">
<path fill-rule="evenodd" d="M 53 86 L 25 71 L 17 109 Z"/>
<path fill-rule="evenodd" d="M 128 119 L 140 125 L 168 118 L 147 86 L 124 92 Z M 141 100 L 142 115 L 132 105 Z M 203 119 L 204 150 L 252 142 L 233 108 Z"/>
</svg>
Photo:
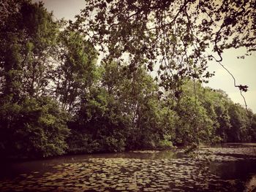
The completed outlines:
<svg viewBox="0 0 256 192">
<path fill-rule="evenodd" d="M 96 31 L 91 37 L 94 31 L 83 28 L 87 22 L 84 15 L 92 11 L 91 7 L 72 22 L 54 19 L 42 3 L 19 0 L 3 4 L 0 11 L 2 158 L 256 142 L 256 115 L 252 110 L 235 104 L 225 91 L 203 85 L 213 75 L 206 72 L 206 61 L 198 60 L 207 47 L 203 45 L 207 39 L 196 42 L 200 49 L 184 57 L 185 67 L 175 63 L 179 61 L 179 48 L 189 50 L 196 39 L 186 34 L 182 36 L 184 39 L 175 39 L 166 34 L 165 27 L 169 25 L 164 25 L 161 30 L 166 33 L 160 29 L 153 32 L 159 37 L 170 37 L 166 39 L 170 45 L 166 47 L 166 43 L 165 48 L 177 45 L 172 48 L 176 52 L 167 53 L 161 47 L 165 43 L 162 40 L 153 46 L 149 38 L 157 39 L 154 34 L 138 34 L 148 28 L 139 22 L 144 19 L 141 12 L 137 24 L 127 24 L 127 28 L 134 29 L 132 32 L 123 26 L 107 27 L 116 21 L 116 15 L 106 18 L 99 12 L 95 23 L 87 20 Z M 104 4 L 91 6 L 105 10 Z M 121 5 L 119 8 L 122 9 Z M 124 18 L 118 18 L 121 21 L 126 20 L 123 13 Z M 163 15 L 156 17 L 158 25 Z M 182 20 L 177 22 L 186 24 Z M 229 25 L 233 26 L 232 22 L 223 28 Z M 205 26 L 202 31 L 207 31 L 209 25 Z M 118 39 L 121 42 L 115 42 Z M 139 39 L 145 42 L 140 44 Z M 215 43 L 215 53 L 221 57 L 223 46 L 217 47 Z M 148 48 L 150 44 L 156 50 L 154 53 Z M 108 56 L 102 56 L 101 51 L 106 47 Z M 163 58 L 169 54 L 173 59 L 166 64 L 159 54 L 165 55 Z M 240 91 L 246 89 L 243 85 L 236 86 Z"/>
</svg>

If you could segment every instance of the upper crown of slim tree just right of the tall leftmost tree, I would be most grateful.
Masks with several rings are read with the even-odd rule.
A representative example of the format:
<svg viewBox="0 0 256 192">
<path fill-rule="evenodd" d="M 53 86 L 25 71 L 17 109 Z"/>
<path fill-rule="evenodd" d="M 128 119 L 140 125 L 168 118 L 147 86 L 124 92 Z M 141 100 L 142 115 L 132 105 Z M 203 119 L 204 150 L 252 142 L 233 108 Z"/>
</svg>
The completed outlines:
<svg viewBox="0 0 256 192">
<path fill-rule="evenodd" d="M 97 52 L 78 31 L 69 28 L 59 35 L 59 66 L 55 72 L 56 98 L 63 110 L 75 110 L 75 104 L 97 79 Z"/>
</svg>

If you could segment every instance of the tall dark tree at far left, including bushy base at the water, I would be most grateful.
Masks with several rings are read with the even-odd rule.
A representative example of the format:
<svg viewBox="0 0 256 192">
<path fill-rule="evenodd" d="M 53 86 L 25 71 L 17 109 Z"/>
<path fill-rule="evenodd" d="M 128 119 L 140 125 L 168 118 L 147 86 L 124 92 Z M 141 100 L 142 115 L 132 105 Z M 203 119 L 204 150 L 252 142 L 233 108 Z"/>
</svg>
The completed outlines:
<svg viewBox="0 0 256 192">
<path fill-rule="evenodd" d="M 42 3 L 3 5 L 8 11 L 0 24 L 0 153 L 4 158 L 63 154 L 69 115 L 49 96 L 59 24 Z"/>
</svg>

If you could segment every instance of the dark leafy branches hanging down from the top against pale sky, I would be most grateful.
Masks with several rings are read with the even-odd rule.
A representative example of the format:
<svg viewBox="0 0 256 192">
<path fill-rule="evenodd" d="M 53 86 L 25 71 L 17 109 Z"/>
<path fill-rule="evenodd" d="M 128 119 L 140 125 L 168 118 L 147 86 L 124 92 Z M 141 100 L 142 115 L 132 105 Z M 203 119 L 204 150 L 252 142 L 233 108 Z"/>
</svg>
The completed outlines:
<svg viewBox="0 0 256 192">
<path fill-rule="evenodd" d="M 101 46 L 106 57 L 126 53 L 134 69 L 138 64 L 151 71 L 159 66 L 159 77 L 169 89 L 181 85 L 184 77 L 211 77 L 207 62 L 222 61 L 225 49 L 255 51 L 255 3 L 89 0 L 73 27 Z M 246 91 L 243 85 L 238 88 Z"/>
</svg>

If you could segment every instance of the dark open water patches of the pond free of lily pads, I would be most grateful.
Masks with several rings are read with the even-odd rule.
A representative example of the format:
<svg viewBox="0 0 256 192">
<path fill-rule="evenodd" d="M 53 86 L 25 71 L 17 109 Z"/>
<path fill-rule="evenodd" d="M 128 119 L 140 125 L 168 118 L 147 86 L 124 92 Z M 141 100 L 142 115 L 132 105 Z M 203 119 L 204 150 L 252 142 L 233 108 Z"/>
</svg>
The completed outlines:
<svg viewBox="0 0 256 192">
<path fill-rule="evenodd" d="M 255 147 L 256 144 L 229 143 L 222 147 Z M 231 149 L 231 148 L 230 148 Z M 224 154 L 222 154 L 224 155 Z M 227 155 L 227 154 L 226 154 Z M 228 154 L 230 155 L 230 154 Z M 64 155 L 56 158 L 48 158 L 38 161 L 24 161 L 17 163 L 1 163 L 0 179 L 14 178 L 19 174 L 29 174 L 33 172 L 45 173 L 56 172 L 53 166 L 59 164 L 86 163 L 93 158 L 138 158 L 138 159 L 171 159 L 186 157 L 183 150 L 163 150 L 163 151 L 130 151 L 124 153 L 99 153 L 87 155 Z M 179 161 L 179 160 L 178 160 Z M 209 165 L 211 173 L 221 177 L 223 180 L 243 180 L 251 183 L 252 177 L 256 175 L 256 160 L 244 158 L 243 161 L 214 161 Z M 249 184 L 248 184 L 249 185 Z"/>
</svg>

